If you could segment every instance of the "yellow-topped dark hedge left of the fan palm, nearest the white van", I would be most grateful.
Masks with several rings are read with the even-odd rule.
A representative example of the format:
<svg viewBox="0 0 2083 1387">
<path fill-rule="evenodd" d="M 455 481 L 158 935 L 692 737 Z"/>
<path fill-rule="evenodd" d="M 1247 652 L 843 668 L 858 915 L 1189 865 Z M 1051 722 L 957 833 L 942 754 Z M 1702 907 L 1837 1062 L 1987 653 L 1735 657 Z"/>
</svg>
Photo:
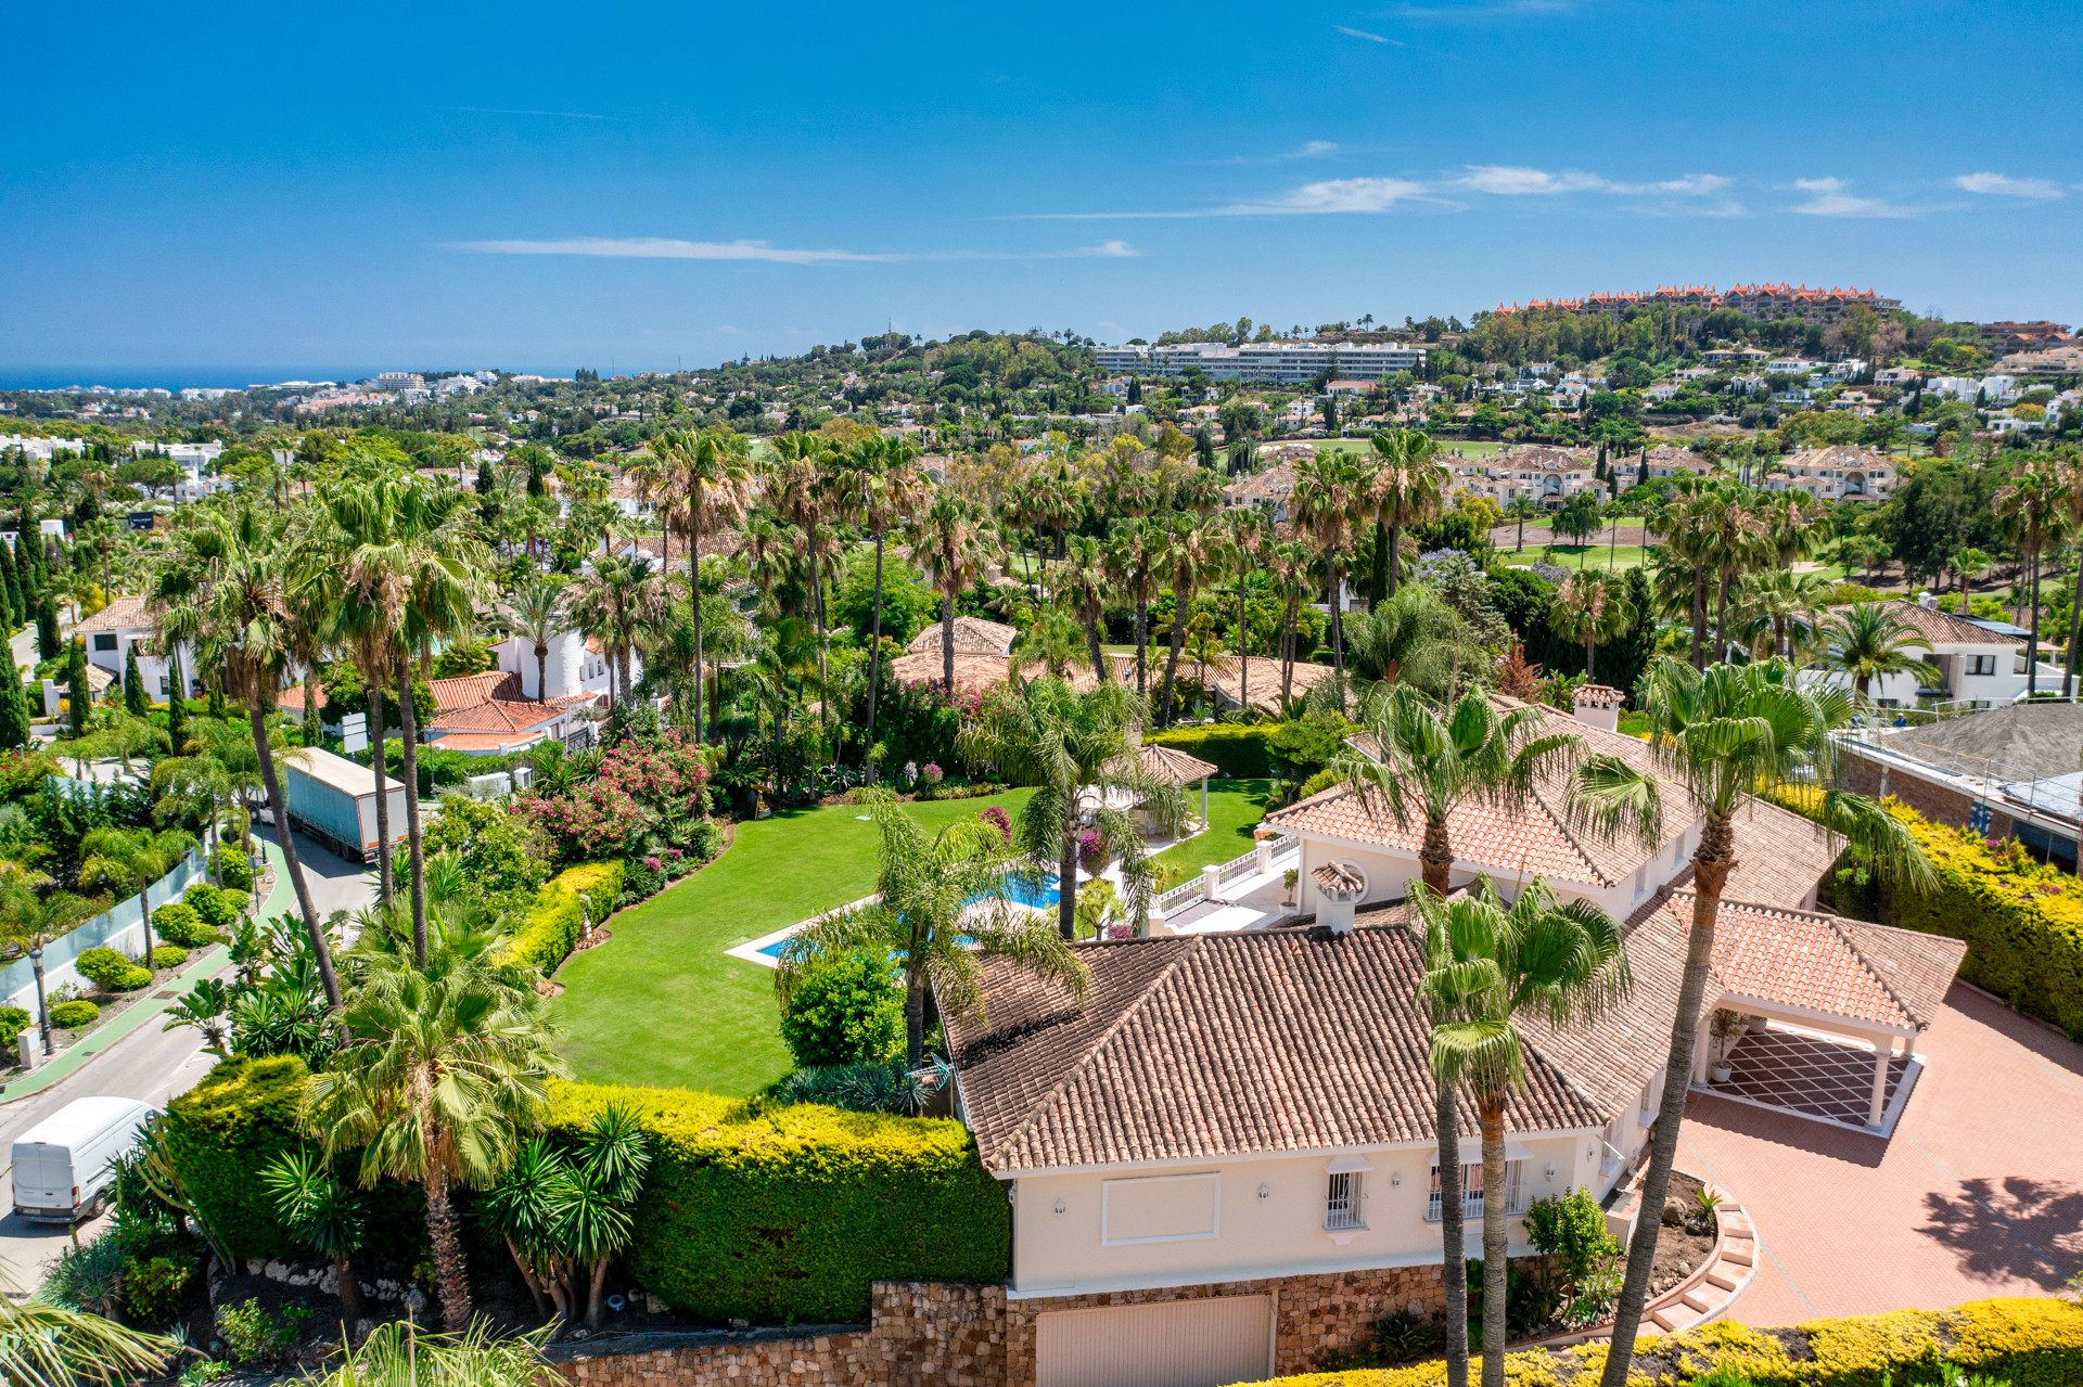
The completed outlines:
<svg viewBox="0 0 2083 1387">
<path fill-rule="evenodd" d="M 294 1054 L 223 1060 L 167 1104 L 167 1156 L 196 1212 L 235 1258 L 302 1256 L 275 1216 L 260 1168 L 302 1145 L 296 1112 L 310 1075 Z"/>
</svg>

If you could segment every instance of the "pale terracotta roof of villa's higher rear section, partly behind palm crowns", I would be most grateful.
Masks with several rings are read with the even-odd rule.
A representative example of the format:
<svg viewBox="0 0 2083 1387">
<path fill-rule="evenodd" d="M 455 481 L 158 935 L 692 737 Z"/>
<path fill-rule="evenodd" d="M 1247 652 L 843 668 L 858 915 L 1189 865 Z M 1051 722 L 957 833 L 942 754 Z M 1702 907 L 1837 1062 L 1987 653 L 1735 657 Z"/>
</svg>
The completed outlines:
<svg viewBox="0 0 2083 1387">
<path fill-rule="evenodd" d="M 1650 748 L 1621 733 L 1587 727 L 1554 708 L 1541 708 L 1541 733 L 1577 733 L 1598 754 L 1654 771 Z M 1519 810 L 1496 804 L 1460 804 L 1448 814 L 1448 839 L 1454 860 L 1489 868 L 1500 879 L 1519 875 L 1548 877 L 1579 885 L 1612 887 L 1633 875 L 1643 862 L 1668 850 L 1700 814 L 1685 789 L 1658 777 L 1664 802 L 1664 837 L 1656 852 L 1646 852 L 1631 837 L 1604 839 L 1583 825 L 1573 825 L 1562 808 L 1562 777 L 1544 777 L 1529 802 Z M 1266 823 L 1291 833 L 1319 833 L 1348 843 L 1396 848 L 1416 856 L 1425 839 L 1425 823 L 1412 818 L 1408 829 L 1396 825 L 1385 806 L 1369 808 L 1350 789 L 1325 789 L 1300 804 L 1266 814 Z"/>
</svg>

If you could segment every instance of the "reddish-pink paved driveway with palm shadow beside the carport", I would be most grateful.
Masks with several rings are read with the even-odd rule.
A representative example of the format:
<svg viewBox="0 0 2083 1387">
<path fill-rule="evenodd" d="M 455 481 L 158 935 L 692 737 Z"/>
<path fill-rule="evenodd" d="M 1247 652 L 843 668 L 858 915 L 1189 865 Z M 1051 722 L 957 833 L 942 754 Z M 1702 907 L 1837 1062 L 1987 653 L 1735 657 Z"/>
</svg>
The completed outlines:
<svg viewBox="0 0 2083 1387">
<path fill-rule="evenodd" d="M 1889 1141 L 1693 1093 L 1679 1166 L 1758 1225 L 1746 1325 L 2046 1295 L 2083 1268 L 2083 1045 L 1954 985 Z"/>
</svg>

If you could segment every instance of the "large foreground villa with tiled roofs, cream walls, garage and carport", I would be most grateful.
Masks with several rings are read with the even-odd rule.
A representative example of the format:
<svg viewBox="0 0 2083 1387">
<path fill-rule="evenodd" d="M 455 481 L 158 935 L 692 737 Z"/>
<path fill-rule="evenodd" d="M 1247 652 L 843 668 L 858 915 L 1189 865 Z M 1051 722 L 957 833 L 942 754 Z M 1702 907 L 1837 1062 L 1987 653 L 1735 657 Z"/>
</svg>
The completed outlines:
<svg viewBox="0 0 2083 1387">
<path fill-rule="evenodd" d="M 1544 723 L 1648 760 L 1633 737 L 1552 710 Z M 1664 810 L 1662 841 L 1604 843 L 1550 779 L 1523 810 L 1450 821 L 1456 889 L 1487 875 L 1514 896 L 1544 877 L 1627 921 L 1635 975 L 1631 1000 L 1596 1025 L 1523 1023 L 1527 1087 L 1506 1112 L 1502 1189 L 1481 1187 L 1462 1108 L 1471 1254 L 1487 1197 L 1506 1202 L 1512 1252 L 1527 1254 L 1531 1200 L 1606 1197 L 1643 1158 L 1702 831 L 1679 789 Z M 1300 839 L 1300 914 L 1283 927 L 1079 945 L 1083 1006 L 983 958 L 987 1020 L 950 1014 L 956 1114 L 1012 1202 L 1008 1297 L 1027 1302 L 1044 1364 L 1075 1354 L 1089 1366 L 1079 1381 L 1146 1381 L 1166 1356 L 1191 1360 L 1196 1381 L 1300 1370 L 1333 1304 L 1356 1325 L 1444 1304 L 1431 1027 L 1404 904 L 1423 825 L 1400 829 L 1329 789 L 1266 827 Z M 1693 1083 L 1887 1137 L 1964 945 L 1816 910 L 1835 850 L 1808 821 L 1760 802 L 1735 831 L 1704 1016 L 1748 1023 L 1727 1054 L 1702 1035 Z M 1629 1200 L 1608 1206 L 1623 1239 Z"/>
</svg>

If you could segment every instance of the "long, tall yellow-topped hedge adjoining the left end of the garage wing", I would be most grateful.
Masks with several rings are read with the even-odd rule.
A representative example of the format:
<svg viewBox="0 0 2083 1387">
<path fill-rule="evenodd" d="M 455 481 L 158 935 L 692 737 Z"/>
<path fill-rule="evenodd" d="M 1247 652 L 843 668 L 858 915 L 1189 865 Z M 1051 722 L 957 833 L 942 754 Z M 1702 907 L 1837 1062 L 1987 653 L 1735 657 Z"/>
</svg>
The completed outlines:
<svg viewBox="0 0 2083 1387">
<path fill-rule="evenodd" d="M 623 1264 L 702 1318 L 858 1322 L 869 1283 L 1004 1281 L 1004 1187 L 946 1118 L 839 1112 L 689 1093 L 558 1083 L 569 1135 L 629 1104 L 656 1139 Z"/>
</svg>

